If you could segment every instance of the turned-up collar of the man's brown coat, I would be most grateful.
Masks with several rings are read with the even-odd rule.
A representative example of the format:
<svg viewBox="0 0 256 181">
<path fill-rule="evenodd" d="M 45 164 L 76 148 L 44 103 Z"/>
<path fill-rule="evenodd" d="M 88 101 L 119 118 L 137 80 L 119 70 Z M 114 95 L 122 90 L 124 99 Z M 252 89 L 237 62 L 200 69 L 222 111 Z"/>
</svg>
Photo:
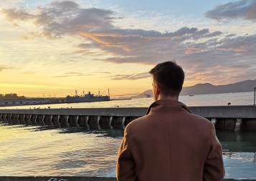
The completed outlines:
<svg viewBox="0 0 256 181">
<path fill-rule="evenodd" d="M 148 110 L 146 112 L 146 115 L 149 114 L 150 112 L 153 111 L 154 108 L 158 107 L 158 106 L 162 106 L 162 107 L 176 107 L 176 108 L 181 108 L 181 109 L 185 109 L 187 112 L 191 111 L 189 110 L 188 107 L 186 107 L 185 104 L 183 104 L 182 102 L 176 101 L 176 100 L 171 100 L 171 99 L 160 99 L 157 100 L 155 102 L 153 102 L 149 107 Z"/>
</svg>

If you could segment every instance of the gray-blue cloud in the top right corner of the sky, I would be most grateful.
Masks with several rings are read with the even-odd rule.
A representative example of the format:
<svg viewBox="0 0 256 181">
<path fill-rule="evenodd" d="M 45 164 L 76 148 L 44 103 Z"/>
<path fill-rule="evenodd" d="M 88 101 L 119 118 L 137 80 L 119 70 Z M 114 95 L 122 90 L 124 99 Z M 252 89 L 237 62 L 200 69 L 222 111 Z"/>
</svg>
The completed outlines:
<svg viewBox="0 0 256 181">
<path fill-rule="evenodd" d="M 214 9 L 207 11 L 205 16 L 210 19 L 229 20 L 229 19 L 246 19 L 256 20 L 256 1 L 240 0 L 232 1 L 227 4 L 216 6 Z"/>
</svg>

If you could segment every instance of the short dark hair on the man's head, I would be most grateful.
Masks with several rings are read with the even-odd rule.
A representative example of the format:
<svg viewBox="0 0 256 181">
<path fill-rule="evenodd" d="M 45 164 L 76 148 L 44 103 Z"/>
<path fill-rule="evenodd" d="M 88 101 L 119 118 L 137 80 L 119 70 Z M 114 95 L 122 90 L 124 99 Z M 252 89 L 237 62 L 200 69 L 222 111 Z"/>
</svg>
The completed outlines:
<svg viewBox="0 0 256 181">
<path fill-rule="evenodd" d="M 176 62 L 167 61 L 157 64 L 149 73 L 153 75 L 153 80 L 160 87 L 162 94 L 174 96 L 181 92 L 185 74 Z"/>
</svg>

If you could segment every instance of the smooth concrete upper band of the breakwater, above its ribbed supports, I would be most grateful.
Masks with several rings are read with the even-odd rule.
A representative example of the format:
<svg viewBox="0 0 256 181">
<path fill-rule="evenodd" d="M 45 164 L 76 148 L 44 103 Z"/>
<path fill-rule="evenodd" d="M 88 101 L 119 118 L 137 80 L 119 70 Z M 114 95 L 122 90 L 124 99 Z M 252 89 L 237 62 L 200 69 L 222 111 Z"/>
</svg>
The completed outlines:
<svg viewBox="0 0 256 181">
<path fill-rule="evenodd" d="M 191 112 L 202 117 L 256 118 L 256 106 L 212 106 L 189 107 Z M 62 115 L 105 115 L 138 116 L 146 114 L 146 107 L 125 108 L 68 108 L 68 109 L 0 109 L 0 113 L 11 114 L 62 114 Z"/>
</svg>

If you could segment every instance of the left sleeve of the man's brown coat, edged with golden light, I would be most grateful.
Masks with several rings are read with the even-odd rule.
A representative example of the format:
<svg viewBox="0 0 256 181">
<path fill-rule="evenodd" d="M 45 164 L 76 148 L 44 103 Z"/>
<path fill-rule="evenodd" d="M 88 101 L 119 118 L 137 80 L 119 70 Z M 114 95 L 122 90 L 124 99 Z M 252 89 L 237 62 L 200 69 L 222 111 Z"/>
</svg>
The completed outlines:
<svg viewBox="0 0 256 181">
<path fill-rule="evenodd" d="M 128 133 L 125 128 L 124 137 L 121 142 L 118 161 L 116 164 L 116 177 L 118 181 L 136 181 L 136 165 L 131 154 L 131 145 L 128 144 Z"/>
</svg>

